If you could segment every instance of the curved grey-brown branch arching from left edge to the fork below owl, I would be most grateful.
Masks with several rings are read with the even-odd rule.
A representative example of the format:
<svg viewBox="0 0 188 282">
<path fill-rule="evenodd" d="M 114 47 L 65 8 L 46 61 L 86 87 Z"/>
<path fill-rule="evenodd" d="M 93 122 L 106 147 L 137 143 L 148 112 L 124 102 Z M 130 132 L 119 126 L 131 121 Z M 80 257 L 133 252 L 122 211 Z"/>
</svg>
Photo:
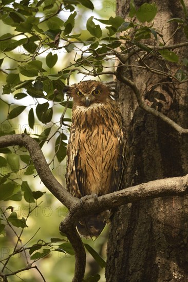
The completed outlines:
<svg viewBox="0 0 188 282">
<path fill-rule="evenodd" d="M 73 197 L 62 187 L 58 180 L 55 179 L 39 144 L 27 134 L 6 135 L 0 137 L 0 148 L 15 145 L 24 146 L 29 151 L 35 169 L 44 185 L 63 205 L 70 209 L 78 199 Z"/>
</svg>

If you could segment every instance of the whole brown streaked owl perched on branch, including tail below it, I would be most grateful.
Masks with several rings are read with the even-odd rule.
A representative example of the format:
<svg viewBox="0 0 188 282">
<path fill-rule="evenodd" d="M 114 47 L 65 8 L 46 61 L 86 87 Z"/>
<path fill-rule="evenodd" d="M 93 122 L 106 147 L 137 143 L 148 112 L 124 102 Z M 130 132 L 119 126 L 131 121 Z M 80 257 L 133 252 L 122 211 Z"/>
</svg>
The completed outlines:
<svg viewBox="0 0 188 282">
<path fill-rule="evenodd" d="M 66 184 L 75 197 L 105 195 L 124 188 L 126 132 L 112 89 L 97 80 L 66 88 L 73 98 L 67 146 Z M 82 218 L 77 229 L 84 237 L 98 237 L 109 211 Z"/>
</svg>

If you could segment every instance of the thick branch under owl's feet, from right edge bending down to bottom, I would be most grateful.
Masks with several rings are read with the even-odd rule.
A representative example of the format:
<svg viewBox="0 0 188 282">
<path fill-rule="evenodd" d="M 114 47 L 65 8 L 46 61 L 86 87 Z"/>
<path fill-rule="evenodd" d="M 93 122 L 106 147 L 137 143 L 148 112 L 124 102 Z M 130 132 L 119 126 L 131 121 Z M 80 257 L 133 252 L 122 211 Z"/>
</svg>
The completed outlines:
<svg viewBox="0 0 188 282">
<path fill-rule="evenodd" d="M 75 251 L 76 263 L 73 281 L 83 281 L 85 272 L 85 250 L 82 240 L 74 227 L 81 217 L 139 200 L 163 196 L 182 196 L 185 194 L 188 194 L 188 174 L 183 177 L 159 179 L 129 187 L 100 196 L 97 201 L 93 198 L 88 198 L 83 202 L 84 204 L 80 201 L 78 205 L 72 207 L 69 214 L 60 224 L 60 230 L 66 233 Z"/>
</svg>

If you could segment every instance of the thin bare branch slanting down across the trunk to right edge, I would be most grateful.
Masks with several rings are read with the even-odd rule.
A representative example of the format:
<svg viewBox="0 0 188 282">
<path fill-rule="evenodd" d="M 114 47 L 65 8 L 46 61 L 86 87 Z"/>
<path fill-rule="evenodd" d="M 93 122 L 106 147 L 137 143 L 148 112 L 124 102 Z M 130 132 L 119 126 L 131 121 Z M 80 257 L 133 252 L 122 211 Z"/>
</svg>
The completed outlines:
<svg viewBox="0 0 188 282">
<path fill-rule="evenodd" d="M 124 84 L 128 85 L 131 89 L 133 89 L 133 91 L 136 95 L 136 98 L 137 98 L 138 105 L 141 109 L 143 109 L 144 111 L 146 111 L 148 113 L 153 114 L 156 117 L 159 117 L 165 123 L 167 123 L 168 125 L 170 125 L 174 129 L 176 129 L 180 134 L 188 134 L 188 129 L 182 128 L 180 125 L 175 123 L 174 120 L 172 120 L 171 118 L 167 117 L 166 115 L 164 115 L 161 112 L 156 111 L 154 108 L 147 106 L 143 102 L 140 91 L 138 90 L 136 84 L 134 82 L 132 82 L 130 79 L 128 79 L 127 77 L 125 77 L 124 75 L 122 75 L 122 72 L 120 70 L 119 71 L 117 70 L 116 76 L 121 82 L 123 82 Z"/>
</svg>

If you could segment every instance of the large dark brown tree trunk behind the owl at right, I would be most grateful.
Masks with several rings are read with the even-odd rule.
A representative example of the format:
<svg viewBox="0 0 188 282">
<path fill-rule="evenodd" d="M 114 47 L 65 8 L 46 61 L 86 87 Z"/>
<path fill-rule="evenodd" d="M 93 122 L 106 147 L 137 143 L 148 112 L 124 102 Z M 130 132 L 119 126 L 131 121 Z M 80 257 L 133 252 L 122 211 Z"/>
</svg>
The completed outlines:
<svg viewBox="0 0 188 282">
<path fill-rule="evenodd" d="M 144 2 L 135 0 L 137 7 Z M 162 30 L 166 41 L 177 25 L 166 21 L 182 17 L 182 6 L 180 1 L 173 5 L 171 0 L 155 2 L 158 13 L 154 27 Z M 127 18 L 128 11 L 129 1 L 117 0 L 117 15 Z M 167 44 L 187 41 L 182 36 L 180 29 Z M 180 57 L 187 56 L 186 47 L 175 52 Z M 165 70 L 159 60 L 148 56 L 147 64 L 156 67 L 160 63 Z M 168 66 L 175 70 L 173 63 Z M 187 83 L 174 85 L 169 78 L 139 68 L 127 70 L 126 76 L 136 83 L 147 103 L 187 128 Z M 128 130 L 127 186 L 185 175 L 188 137 L 180 136 L 160 119 L 141 110 L 128 86 L 117 82 L 117 90 Z M 145 200 L 118 209 L 110 226 L 106 281 L 188 281 L 187 196 Z"/>
</svg>

